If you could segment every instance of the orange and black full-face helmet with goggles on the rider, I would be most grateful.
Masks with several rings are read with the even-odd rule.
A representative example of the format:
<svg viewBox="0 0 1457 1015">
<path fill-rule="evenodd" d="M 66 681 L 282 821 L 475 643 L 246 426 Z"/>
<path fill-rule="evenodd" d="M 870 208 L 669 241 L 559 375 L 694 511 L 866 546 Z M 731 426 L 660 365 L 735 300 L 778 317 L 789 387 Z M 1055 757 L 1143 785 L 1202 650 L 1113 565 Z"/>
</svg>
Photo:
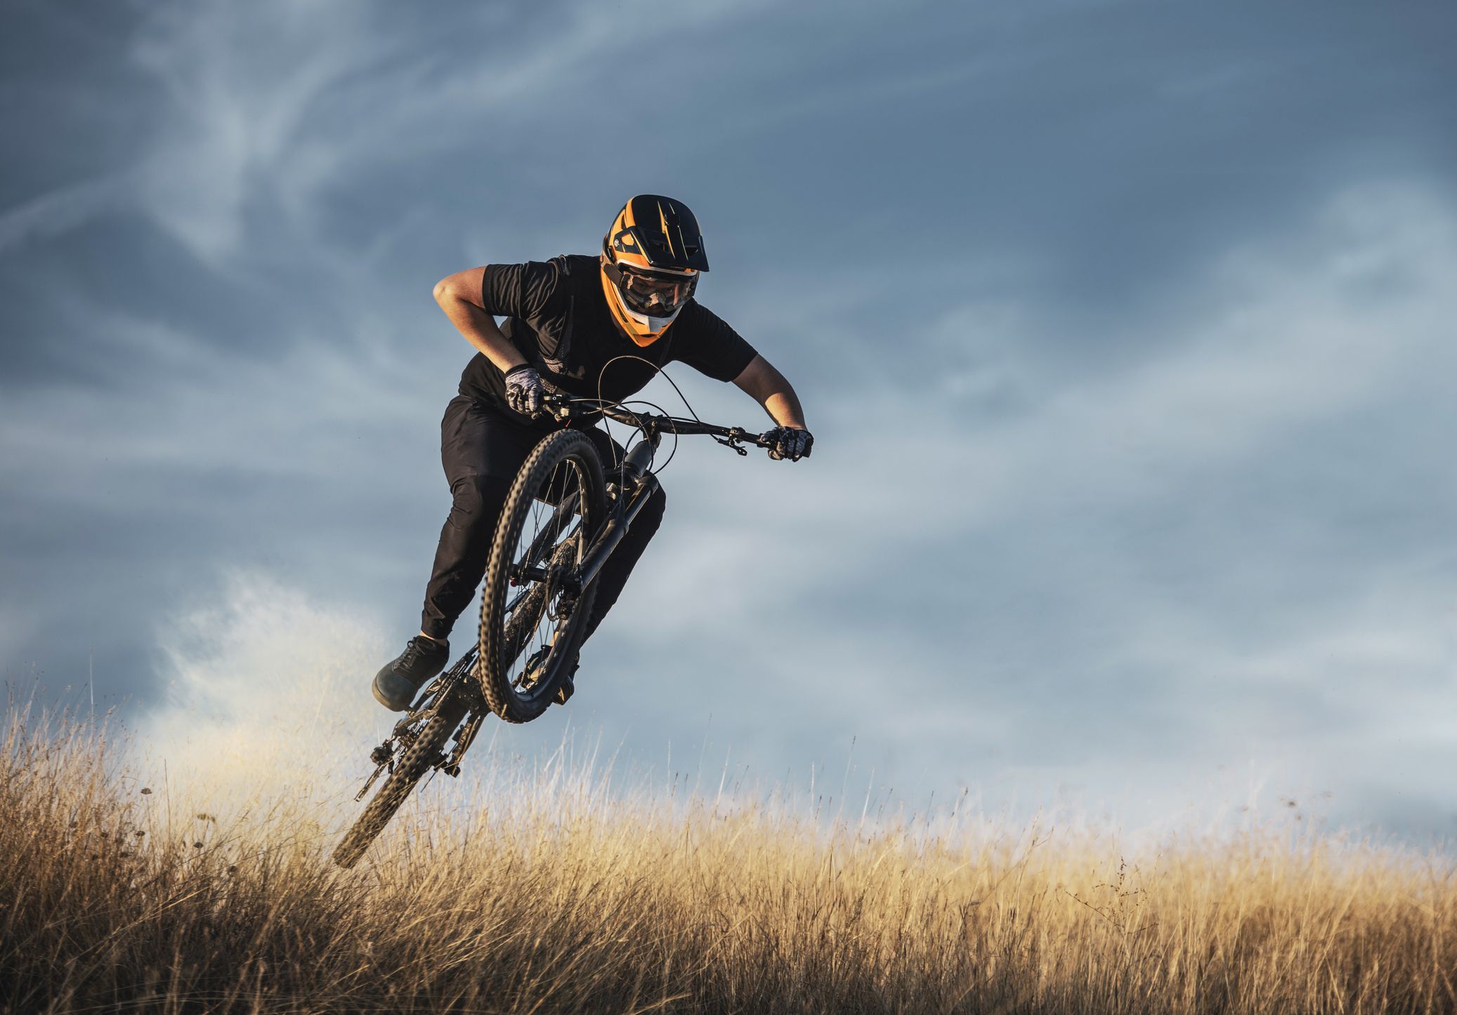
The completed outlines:
<svg viewBox="0 0 1457 1015">
<path fill-rule="evenodd" d="M 638 345 L 651 345 L 708 271 L 698 218 L 688 205 L 640 194 L 602 240 L 602 288 L 613 319 Z"/>
</svg>

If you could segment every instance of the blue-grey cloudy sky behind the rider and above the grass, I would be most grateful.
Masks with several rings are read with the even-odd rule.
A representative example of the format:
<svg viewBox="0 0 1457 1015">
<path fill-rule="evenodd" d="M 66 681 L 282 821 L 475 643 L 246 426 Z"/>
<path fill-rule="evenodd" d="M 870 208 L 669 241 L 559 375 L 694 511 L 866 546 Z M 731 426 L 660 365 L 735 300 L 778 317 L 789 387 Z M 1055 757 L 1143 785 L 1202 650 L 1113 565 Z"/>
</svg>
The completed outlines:
<svg viewBox="0 0 1457 1015">
<path fill-rule="evenodd" d="M 501 737 L 1457 832 L 1448 6 L 0 19 L 9 680 L 93 655 L 144 725 L 322 699 L 334 660 L 316 703 L 374 737 L 469 352 L 431 285 L 590 253 L 666 192 L 816 454 L 685 443 L 573 708 Z"/>
</svg>

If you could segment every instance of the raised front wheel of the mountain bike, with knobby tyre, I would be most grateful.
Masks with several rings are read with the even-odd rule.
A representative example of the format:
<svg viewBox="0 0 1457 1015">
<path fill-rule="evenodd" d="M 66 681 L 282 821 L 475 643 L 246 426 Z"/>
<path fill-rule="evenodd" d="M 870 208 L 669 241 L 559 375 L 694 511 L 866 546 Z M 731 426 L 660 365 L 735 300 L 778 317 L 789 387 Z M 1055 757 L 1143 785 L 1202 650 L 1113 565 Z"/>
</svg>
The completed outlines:
<svg viewBox="0 0 1457 1015">
<path fill-rule="evenodd" d="M 568 572 L 606 514 L 597 449 L 558 431 L 532 451 L 506 498 L 481 596 L 476 677 L 491 711 L 529 722 L 546 711 L 581 645 L 594 590 Z"/>
</svg>

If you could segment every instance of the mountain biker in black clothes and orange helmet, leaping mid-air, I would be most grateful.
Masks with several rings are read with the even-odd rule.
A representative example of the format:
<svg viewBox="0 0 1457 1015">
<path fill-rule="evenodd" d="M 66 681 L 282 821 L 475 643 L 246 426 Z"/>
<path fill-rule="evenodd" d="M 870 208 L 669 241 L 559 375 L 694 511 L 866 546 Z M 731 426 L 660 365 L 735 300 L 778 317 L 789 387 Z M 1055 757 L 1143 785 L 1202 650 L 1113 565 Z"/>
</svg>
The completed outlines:
<svg viewBox="0 0 1457 1015">
<path fill-rule="evenodd" d="M 436 301 L 476 354 L 440 422 L 440 459 L 453 502 L 425 587 L 420 633 L 374 674 L 380 705 L 408 709 L 449 661 L 446 639 L 485 574 L 516 472 L 536 443 L 561 427 L 543 414 L 545 395 L 621 400 L 676 360 L 731 380 L 765 408 L 775 422 L 771 459 L 797 462 L 809 453 L 814 438 L 790 382 L 694 299 L 705 271 L 704 239 L 688 205 L 641 194 L 618 213 L 596 258 L 485 265 L 436 284 Z M 603 462 L 621 460 L 622 449 L 603 430 L 583 433 Z M 664 504 L 657 491 L 597 575 L 587 636 L 657 532 Z M 570 693 L 568 674 L 558 700 Z"/>
</svg>

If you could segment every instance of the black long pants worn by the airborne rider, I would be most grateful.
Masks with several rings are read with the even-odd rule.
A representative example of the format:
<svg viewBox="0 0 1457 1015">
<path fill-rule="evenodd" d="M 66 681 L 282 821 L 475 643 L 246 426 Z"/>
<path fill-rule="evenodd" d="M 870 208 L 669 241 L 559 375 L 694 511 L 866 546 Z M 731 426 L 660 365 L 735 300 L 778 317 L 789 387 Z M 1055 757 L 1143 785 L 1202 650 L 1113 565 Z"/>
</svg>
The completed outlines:
<svg viewBox="0 0 1457 1015">
<path fill-rule="evenodd" d="M 581 433 L 596 444 L 605 466 L 621 460 L 622 449 L 606 431 L 589 427 Z M 440 462 L 450 481 L 453 502 L 450 517 L 440 530 L 436 566 L 425 587 L 425 609 L 420 620 L 420 629 L 431 638 L 449 635 L 460 610 L 475 596 L 485 574 L 495 520 L 506 505 L 506 495 L 526 456 L 545 435 L 463 395 L 450 399 L 446 406 L 446 415 L 440 421 Z M 602 566 L 596 581 L 597 596 L 587 617 L 589 636 L 618 601 L 632 565 L 643 556 L 647 542 L 663 521 L 666 504 L 661 489 L 653 494 L 616 552 Z"/>
</svg>

